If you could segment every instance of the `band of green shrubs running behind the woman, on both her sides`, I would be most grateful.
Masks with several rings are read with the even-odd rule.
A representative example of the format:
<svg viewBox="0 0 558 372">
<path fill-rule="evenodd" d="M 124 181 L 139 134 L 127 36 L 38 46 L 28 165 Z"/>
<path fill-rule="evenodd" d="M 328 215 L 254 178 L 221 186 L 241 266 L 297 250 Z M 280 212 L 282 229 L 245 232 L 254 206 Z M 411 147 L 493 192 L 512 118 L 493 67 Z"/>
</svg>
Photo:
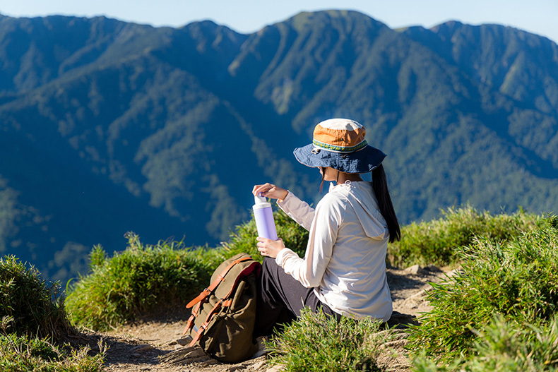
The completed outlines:
<svg viewBox="0 0 558 372">
<path fill-rule="evenodd" d="M 285 246 L 304 256 L 308 232 L 283 211 L 275 212 L 275 221 Z M 541 217 L 525 212 L 510 216 L 479 213 L 470 207 L 450 210 L 440 220 L 404 226 L 402 240 L 388 246 L 388 262 L 402 268 L 457 265 L 461 262 L 458 248 L 475 244 L 481 237 L 504 243 L 537 228 L 540 221 Z M 90 253 L 91 273 L 72 284 L 66 306 L 74 322 L 100 330 L 139 314 L 184 311 L 189 299 L 207 287 L 223 260 L 240 252 L 261 260 L 256 236 L 254 221 L 237 226 L 230 240 L 216 248 L 186 248 L 172 241 L 153 246 L 129 234 L 125 251 L 109 257 L 97 246 Z"/>
</svg>

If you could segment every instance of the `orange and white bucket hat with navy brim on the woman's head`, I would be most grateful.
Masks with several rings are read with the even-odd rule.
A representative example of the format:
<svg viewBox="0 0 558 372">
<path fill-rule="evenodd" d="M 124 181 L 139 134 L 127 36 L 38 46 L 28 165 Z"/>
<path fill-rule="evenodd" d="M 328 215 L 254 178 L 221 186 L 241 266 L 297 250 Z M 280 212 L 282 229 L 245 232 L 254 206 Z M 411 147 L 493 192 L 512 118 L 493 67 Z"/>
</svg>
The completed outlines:
<svg viewBox="0 0 558 372">
<path fill-rule="evenodd" d="M 314 128 L 312 143 L 295 148 L 307 167 L 331 167 L 345 173 L 368 173 L 381 164 L 384 152 L 368 145 L 366 129 L 350 119 L 328 119 Z"/>
</svg>

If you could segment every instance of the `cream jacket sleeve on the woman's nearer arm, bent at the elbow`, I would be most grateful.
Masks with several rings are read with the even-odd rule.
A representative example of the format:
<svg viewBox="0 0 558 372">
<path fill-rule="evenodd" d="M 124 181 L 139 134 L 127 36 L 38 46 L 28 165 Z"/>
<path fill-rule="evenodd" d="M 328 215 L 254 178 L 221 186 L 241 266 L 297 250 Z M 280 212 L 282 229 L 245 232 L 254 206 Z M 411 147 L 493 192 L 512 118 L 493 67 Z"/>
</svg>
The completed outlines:
<svg viewBox="0 0 558 372">
<path fill-rule="evenodd" d="M 286 199 L 286 198 L 285 198 Z M 340 208 L 324 196 L 318 203 L 311 222 L 308 246 L 304 258 L 288 248 L 282 249 L 275 262 L 304 287 L 319 287 L 333 254 L 341 223 Z"/>
</svg>

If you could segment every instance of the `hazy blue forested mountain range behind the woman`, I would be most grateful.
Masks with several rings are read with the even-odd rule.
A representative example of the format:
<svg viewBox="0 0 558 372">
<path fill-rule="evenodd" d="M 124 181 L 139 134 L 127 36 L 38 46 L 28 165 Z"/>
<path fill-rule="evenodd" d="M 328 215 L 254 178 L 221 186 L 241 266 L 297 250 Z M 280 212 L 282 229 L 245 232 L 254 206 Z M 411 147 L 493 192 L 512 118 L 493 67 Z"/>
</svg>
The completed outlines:
<svg viewBox="0 0 558 372">
<path fill-rule="evenodd" d="M 0 252 L 49 277 L 130 230 L 217 244 L 258 182 L 316 200 L 319 174 L 292 149 L 333 116 L 388 154 L 402 222 L 462 203 L 558 210 L 558 47 L 514 28 L 0 16 L 0 66 Z"/>
</svg>

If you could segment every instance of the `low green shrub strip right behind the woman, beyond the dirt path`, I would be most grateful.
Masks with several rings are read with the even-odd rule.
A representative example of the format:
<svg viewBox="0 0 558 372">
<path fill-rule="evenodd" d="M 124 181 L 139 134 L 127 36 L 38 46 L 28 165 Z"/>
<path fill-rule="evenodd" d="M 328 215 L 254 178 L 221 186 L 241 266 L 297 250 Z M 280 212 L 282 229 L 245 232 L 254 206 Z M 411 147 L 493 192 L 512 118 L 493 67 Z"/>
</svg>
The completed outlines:
<svg viewBox="0 0 558 372">
<path fill-rule="evenodd" d="M 476 236 L 489 241 L 505 241 L 533 229 L 540 217 L 520 210 L 514 215 L 478 213 L 474 208 L 449 208 L 443 217 L 430 222 L 402 227 L 401 240 L 388 246 L 388 263 L 410 265 L 451 265 L 456 263 L 456 248 L 473 244 Z"/>
</svg>

